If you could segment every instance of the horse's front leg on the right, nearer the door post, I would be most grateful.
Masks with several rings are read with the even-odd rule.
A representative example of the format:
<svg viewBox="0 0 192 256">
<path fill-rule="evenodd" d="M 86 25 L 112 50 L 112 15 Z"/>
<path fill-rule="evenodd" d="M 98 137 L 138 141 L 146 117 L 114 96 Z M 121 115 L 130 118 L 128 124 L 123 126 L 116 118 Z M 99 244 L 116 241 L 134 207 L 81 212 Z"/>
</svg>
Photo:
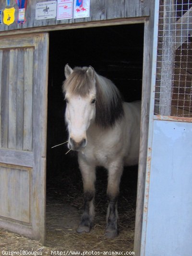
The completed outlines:
<svg viewBox="0 0 192 256">
<path fill-rule="evenodd" d="M 106 236 L 108 238 L 114 238 L 118 235 L 118 195 L 120 178 L 123 171 L 122 162 L 113 162 L 108 168 L 108 213 L 107 213 L 107 227 Z"/>
</svg>

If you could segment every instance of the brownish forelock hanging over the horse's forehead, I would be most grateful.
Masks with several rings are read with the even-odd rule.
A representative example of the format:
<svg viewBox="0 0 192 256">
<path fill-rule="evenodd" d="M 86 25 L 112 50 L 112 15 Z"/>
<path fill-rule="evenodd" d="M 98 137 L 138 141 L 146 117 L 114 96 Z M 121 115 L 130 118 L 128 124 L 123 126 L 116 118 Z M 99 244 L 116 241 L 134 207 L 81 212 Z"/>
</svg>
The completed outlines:
<svg viewBox="0 0 192 256">
<path fill-rule="evenodd" d="M 75 67 L 70 76 L 63 83 L 63 92 L 67 91 L 74 95 L 80 95 L 82 97 L 89 94 L 93 88 L 94 81 L 90 80 L 87 75 L 87 67 L 79 68 Z"/>
</svg>

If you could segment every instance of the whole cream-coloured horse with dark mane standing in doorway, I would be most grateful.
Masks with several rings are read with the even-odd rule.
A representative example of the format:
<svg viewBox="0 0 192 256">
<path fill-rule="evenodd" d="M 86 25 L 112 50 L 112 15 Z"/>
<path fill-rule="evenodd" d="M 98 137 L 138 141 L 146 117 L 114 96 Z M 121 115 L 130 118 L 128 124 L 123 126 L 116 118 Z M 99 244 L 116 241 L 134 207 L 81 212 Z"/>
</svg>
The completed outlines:
<svg viewBox="0 0 192 256">
<path fill-rule="evenodd" d="M 96 167 L 108 170 L 105 235 L 118 235 L 118 195 L 123 166 L 138 164 L 141 102 L 123 102 L 118 88 L 93 67 L 65 65 L 68 148 L 78 152 L 84 188 L 84 213 L 78 233 L 90 232 L 94 216 Z"/>
</svg>

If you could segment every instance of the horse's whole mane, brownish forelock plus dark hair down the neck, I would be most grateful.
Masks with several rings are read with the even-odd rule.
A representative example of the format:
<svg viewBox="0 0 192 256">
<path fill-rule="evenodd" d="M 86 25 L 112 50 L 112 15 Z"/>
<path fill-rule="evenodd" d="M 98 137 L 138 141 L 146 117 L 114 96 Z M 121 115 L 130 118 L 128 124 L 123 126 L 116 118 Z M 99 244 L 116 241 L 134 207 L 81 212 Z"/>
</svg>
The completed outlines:
<svg viewBox="0 0 192 256">
<path fill-rule="evenodd" d="M 94 78 L 87 75 L 88 67 L 75 67 L 63 83 L 63 92 L 85 97 L 94 86 Z M 122 99 L 118 88 L 106 77 L 95 72 L 96 118 L 97 125 L 107 128 L 113 126 L 123 115 Z"/>
</svg>

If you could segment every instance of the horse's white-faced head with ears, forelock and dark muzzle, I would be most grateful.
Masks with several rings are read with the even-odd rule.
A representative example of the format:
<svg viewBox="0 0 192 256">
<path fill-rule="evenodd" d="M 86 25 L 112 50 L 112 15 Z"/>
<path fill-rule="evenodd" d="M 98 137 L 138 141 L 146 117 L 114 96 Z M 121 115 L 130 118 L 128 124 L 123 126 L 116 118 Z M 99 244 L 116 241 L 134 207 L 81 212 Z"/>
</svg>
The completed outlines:
<svg viewBox="0 0 192 256">
<path fill-rule="evenodd" d="M 68 147 L 80 151 L 87 144 L 86 131 L 96 115 L 95 71 L 92 67 L 65 66 L 63 92 L 66 100 L 65 120 L 69 131 Z"/>
</svg>

